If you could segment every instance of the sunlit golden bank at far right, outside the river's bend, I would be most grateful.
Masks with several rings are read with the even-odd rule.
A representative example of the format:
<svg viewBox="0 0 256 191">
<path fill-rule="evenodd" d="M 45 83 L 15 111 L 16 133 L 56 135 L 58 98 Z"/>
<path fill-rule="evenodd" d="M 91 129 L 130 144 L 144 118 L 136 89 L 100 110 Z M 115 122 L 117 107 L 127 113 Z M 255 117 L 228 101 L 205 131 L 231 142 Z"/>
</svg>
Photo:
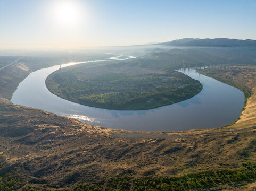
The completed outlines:
<svg viewBox="0 0 256 191">
<path fill-rule="evenodd" d="M 200 70 L 207 75 L 223 83 L 234 86 L 244 92 L 245 103 L 241 115 L 227 128 L 247 128 L 256 126 L 256 67 L 255 66 L 227 66 L 221 69 L 210 68 Z"/>
</svg>

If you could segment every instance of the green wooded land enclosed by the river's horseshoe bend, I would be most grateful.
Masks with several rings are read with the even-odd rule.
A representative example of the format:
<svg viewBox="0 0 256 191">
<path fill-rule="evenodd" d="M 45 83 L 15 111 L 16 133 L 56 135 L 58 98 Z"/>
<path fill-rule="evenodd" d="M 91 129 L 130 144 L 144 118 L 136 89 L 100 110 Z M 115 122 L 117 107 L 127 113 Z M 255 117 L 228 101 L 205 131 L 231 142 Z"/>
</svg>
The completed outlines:
<svg viewBox="0 0 256 191">
<path fill-rule="evenodd" d="M 60 68 L 46 79 L 49 91 L 82 105 L 114 110 L 146 110 L 186 100 L 202 84 L 169 68 L 141 66 L 137 60 Z"/>
</svg>

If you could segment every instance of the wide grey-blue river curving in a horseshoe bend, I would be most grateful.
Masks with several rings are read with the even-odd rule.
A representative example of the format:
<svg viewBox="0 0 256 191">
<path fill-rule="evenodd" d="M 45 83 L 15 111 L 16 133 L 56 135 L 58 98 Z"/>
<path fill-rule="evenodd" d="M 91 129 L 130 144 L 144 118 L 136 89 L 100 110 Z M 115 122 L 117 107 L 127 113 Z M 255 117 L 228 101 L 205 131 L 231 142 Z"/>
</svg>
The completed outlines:
<svg viewBox="0 0 256 191">
<path fill-rule="evenodd" d="M 86 64 L 85 62 L 81 63 Z M 61 66 L 73 64 L 79 63 Z M 242 91 L 199 74 L 195 69 L 186 68 L 178 71 L 203 84 L 202 91 L 191 99 L 142 111 L 93 108 L 59 98 L 48 91 L 45 79 L 59 68 L 60 65 L 57 65 L 30 73 L 19 84 L 11 101 L 14 104 L 43 109 L 96 126 L 135 131 L 183 131 L 217 128 L 233 123 L 241 114 L 244 105 Z"/>
</svg>

